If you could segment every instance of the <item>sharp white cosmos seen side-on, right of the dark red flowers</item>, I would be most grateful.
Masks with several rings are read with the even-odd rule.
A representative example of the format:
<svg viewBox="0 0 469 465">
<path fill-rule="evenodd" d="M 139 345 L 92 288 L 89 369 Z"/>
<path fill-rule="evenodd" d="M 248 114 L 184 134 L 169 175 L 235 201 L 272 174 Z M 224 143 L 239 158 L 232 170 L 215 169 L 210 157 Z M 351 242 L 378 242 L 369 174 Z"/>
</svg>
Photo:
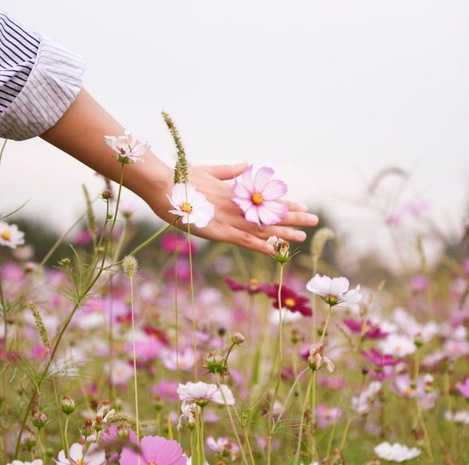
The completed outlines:
<svg viewBox="0 0 469 465">
<path fill-rule="evenodd" d="M 312 293 L 321 296 L 330 305 L 337 305 L 341 302 L 358 303 L 363 296 L 361 295 L 360 286 L 355 289 L 348 290 L 350 283 L 347 278 L 329 278 L 329 276 L 319 276 L 317 274 L 311 278 L 306 285 L 306 289 Z"/>
</svg>

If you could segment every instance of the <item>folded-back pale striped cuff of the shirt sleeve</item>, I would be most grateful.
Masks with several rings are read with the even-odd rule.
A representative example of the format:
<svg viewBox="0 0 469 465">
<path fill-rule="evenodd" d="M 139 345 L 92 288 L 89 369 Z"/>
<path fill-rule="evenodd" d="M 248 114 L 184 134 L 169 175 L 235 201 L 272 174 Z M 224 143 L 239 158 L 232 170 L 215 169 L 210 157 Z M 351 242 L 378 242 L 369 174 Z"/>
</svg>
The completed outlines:
<svg viewBox="0 0 469 465">
<path fill-rule="evenodd" d="M 0 115 L 1 136 L 22 141 L 54 126 L 76 99 L 84 71 L 81 56 L 41 37 L 28 81 Z"/>
</svg>

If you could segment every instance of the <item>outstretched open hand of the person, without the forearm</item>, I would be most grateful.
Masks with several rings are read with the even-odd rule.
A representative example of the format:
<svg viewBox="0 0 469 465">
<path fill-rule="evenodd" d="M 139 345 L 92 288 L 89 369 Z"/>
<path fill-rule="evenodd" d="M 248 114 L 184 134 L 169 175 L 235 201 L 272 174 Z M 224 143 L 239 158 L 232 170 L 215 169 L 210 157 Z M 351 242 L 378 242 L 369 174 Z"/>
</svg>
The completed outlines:
<svg viewBox="0 0 469 465">
<path fill-rule="evenodd" d="M 230 242 L 264 254 L 272 254 L 273 247 L 266 242 L 270 236 L 281 237 L 288 241 L 303 242 L 306 233 L 295 227 L 312 227 L 317 225 L 316 215 L 307 212 L 306 205 L 294 202 L 283 202 L 288 206 L 288 213 L 280 223 L 259 227 L 248 222 L 243 211 L 232 201 L 232 180 L 239 176 L 248 166 L 247 163 L 237 165 L 196 166 L 189 169 L 189 182 L 203 194 L 215 207 L 215 216 L 206 227 L 197 228 L 190 225 L 191 234 L 210 240 Z M 171 185 L 166 185 L 166 193 L 170 194 Z M 163 201 L 161 201 L 163 200 Z M 150 202 L 155 213 L 170 222 L 174 216 L 168 213 L 171 208 L 165 195 Z M 186 225 L 178 225 L 187 230 Z"/>
</svg>

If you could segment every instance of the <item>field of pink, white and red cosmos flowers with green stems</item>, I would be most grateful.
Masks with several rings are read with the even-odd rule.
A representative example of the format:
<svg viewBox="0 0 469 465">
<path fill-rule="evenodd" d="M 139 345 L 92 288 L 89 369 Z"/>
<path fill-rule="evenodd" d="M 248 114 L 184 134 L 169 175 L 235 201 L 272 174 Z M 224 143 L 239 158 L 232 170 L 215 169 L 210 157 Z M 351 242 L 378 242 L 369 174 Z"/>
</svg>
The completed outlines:
<svg viewBox="0 0 469 465">
<path fill-rule="evenodd" d="M 106 141 L 122 170 L 129 137 Z M 55 261 L 0 221 L 1 463 L 467 464 L 463 240 L 395 273 L 343 269 L 325 226 L 271 256 L 200 242 L 217 212 L 178 163 L 174 221 L 139 244 L 121 186 Z M 236 180 L 252 223 L 284 214 L 272 174 Z"/>
</svg>

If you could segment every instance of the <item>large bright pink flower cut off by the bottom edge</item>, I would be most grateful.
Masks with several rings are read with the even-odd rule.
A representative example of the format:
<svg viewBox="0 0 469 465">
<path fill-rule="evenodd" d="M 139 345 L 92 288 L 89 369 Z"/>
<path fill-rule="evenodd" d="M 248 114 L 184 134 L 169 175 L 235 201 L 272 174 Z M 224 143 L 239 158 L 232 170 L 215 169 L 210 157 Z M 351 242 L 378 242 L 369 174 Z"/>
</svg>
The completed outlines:
<svg viewBox="0 0 469 465">
<path fill-rule="evenodd" d="M 140 441 L 141 465 L 186 465 L 188 459 L 183 455 L 179 442 L 167 440 L 161 436 L 145 436 Z M 135 465 L 139 462 L 139 455 L 130 448 L 123 448 L 121 465 Z"/>
</svg>

